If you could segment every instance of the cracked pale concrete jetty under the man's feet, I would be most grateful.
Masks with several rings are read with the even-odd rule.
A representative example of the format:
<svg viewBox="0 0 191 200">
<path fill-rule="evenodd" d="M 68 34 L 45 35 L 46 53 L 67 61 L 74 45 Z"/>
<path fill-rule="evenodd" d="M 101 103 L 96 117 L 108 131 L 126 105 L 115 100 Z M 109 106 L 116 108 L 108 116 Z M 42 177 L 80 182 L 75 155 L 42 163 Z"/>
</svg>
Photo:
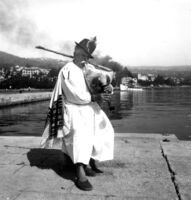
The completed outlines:
<svg viewBox="0 0 191 200">
<path fill-rule="evenodd" d="M 75 186 L 74 166 L 60 151 L 41 149 L 40 137 L 0 137 L 2 200 L 190 200 L 191 145 L 174 135 L 116 133 L 114 160 Z"/>
</svg>

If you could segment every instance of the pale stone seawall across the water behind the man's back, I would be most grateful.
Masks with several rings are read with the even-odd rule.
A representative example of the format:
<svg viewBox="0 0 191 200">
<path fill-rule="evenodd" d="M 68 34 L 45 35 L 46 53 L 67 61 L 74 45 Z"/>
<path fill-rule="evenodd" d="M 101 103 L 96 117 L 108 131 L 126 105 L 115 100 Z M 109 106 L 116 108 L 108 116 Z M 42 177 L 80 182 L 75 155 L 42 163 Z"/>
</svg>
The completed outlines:
<svg viewBox="0 0 191 200">
<path fill-rule="evenodd" d="M 52 92 L 0 94 L 0 107 L 49 100 Z"/>
</svg>

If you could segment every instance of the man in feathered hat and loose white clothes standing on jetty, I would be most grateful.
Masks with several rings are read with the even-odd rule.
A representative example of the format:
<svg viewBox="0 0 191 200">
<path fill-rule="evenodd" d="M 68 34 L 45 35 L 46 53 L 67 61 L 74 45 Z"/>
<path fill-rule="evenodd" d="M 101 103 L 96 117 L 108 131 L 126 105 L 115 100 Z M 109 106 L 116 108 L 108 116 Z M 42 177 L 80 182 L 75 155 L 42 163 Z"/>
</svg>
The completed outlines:
<svg viewBox="0 0 191 200">
<path fill-rule="evenodd" d="M 92 101 L 85 80 L 88 60 L 93 58 L 95 48 L 96 38 L 76 42 L 73 61 L 60 70 L 41 143 L 47 147 L 55 140 L 62 140 L 63 152 L 76 166 L 76 186 L 86 191 L 93 189 L 86 175 L 101 172 L 95 160 L 113 159 L 114 147 L 113 127 L 99 105 Z M 111 90 L 111 85 L 104 88 L 105 93 Z M 92 171 L 88 170 L 88 164 Z"/>
</svg>

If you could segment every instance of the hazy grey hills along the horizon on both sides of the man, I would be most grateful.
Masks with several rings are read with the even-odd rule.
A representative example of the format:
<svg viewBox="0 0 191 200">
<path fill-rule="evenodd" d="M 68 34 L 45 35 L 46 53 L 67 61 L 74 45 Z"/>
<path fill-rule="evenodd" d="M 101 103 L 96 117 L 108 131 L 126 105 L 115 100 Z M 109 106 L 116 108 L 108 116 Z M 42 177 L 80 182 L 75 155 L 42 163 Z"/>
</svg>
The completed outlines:
<svg viewBox="0 0 191 200">
<path fill-rule="evenodd" d="M 99 58 L 97 58 L 99 63 Z M 62 67 L 67 61 L 52 59 L 52 58 L 22 58 L 6 52 L 0 51 L 0 68 L 10 65 L 23 65 L 23 66 L 36 66 L 48 69 L 58 69 Z M 104 63 L 108 66 L 111 64 Z M 116 64 L 115 62 L 113 63 Z M 178 75 L 178 76 L 191 76 L 191 66 L 128 66 L 127 67 L 132 73 L 142 74 L 160 74 L 160 75 Z"/>
</svg>

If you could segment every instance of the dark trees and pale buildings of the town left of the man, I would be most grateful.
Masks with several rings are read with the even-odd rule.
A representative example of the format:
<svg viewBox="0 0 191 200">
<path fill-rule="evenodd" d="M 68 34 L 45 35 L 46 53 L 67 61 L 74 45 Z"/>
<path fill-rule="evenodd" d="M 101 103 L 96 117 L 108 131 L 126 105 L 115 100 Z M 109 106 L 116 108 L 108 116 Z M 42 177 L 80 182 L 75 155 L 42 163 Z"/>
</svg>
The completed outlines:
<svg viewBox="0 0 191 200">
<path fill-rule="evenodd" d="M 53 88 L 56 82 L 54 69 L 35 66 L 11 66 L 0 69 L 0 89 Z"/>
</svg>

